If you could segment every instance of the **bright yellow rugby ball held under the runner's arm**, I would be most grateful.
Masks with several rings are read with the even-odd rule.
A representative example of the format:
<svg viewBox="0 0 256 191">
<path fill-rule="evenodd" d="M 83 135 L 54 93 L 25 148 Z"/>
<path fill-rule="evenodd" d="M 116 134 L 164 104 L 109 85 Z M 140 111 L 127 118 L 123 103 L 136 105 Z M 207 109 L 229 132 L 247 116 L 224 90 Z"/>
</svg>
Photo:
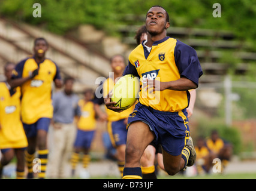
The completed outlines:
<svg viewBox="0 0 256 191">
<path fill-rule="evenodd" d="M 110 100 L 116 102 L 115 107 L 119 106 L 121 110 L 126 110 L 136 102 L 139 91 L 140 79 L 128 74 L 116 82 Z"/>
</svg>

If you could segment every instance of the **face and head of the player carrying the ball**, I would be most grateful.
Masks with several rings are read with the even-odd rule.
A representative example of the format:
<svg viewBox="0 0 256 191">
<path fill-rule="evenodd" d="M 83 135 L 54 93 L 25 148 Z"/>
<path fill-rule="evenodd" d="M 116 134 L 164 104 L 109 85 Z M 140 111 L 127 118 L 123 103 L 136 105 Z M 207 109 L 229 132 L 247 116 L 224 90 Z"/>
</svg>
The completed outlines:
<svg viewBox="0 0 256 191">
<path fill-rule="evenodd" d="M 146 15 L 146 28 L 150 35 L 155 36 L 167 29 L 170 23 L 166 21 L 165 10 L 161 7 L 152 7 Z"/>
</svg>

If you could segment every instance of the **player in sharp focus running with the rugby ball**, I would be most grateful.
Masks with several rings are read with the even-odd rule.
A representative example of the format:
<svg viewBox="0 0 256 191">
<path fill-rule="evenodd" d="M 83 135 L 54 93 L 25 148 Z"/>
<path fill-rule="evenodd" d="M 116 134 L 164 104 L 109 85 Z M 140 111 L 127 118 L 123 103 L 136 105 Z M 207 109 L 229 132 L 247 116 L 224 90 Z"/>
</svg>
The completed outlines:
<svg viewBox="0 0 256 191">
<path fill-rule="evenodd" d="M 203 72 L 193 48 L 166 36 L 169 26 L 164 8 L 150 8 L 146 14 L 147 41 L 129 55 L 124 75 L 138 76 L 143 87 L 128 118 L 123 178 L 141 178 L 140 158 L 153 140 L 162 146 L 168 174 L 174 175 L 195 161 L 186 107 L 188 90 L 198 87 Z M 104 101 L 107 108 L 118 111 L 109 97 Z"/>
</svg>

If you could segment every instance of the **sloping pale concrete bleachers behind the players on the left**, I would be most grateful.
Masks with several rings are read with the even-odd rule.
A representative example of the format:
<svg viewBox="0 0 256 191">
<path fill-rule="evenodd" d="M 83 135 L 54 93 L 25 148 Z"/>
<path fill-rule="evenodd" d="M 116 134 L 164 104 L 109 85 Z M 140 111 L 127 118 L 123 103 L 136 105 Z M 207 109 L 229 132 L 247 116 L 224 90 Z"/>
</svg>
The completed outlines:
<svg viewBox="0 0 256 191">
<path fill-rule="evenodd" d="M 25 23 L 0 19 L 0 61 L 1 66 L 7 61 L 18 63 L 32 53 L 33 42 L 37 37 L 44 37 L 49 42 L 46 57 L 55 61 L 61 69 L 62 76 L 76 79 L 75 90 L 95 88 L 95 81 L 100 76 L 109 76 L 111 71 L 109 59 L 99 56 L 88 47 L 64 36 L 46 32 Z M 0 78 L 3 72 L 0 70 Z"/>
</svg>

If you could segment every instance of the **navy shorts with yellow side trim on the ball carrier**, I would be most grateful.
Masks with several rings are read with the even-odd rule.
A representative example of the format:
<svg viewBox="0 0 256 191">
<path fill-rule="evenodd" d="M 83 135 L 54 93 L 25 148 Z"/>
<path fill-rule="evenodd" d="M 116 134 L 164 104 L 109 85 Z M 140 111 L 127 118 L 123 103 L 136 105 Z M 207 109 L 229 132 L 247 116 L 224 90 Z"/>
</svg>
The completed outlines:
<svg viewBox="0 0 256 191">
<path fill-rule="evenodd" d="M 128 126 L 135 121 L 149 125 L 155 134 L 154 141 L 161 144 L 162 149 L 170 155 L 177 156 L 181 154 L 190 135 L 187 116 L 186 109 L 179 112 L 161 112 L 137 103 L 129 115 Z"/>
</svg>

